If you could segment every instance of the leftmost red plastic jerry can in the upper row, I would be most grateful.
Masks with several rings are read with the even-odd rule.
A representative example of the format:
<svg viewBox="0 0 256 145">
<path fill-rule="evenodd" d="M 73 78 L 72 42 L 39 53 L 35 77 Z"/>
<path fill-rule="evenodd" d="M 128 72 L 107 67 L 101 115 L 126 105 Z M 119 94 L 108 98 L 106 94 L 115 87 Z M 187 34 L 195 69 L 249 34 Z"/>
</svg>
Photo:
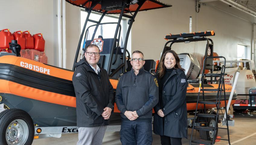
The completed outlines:
<svg viewBox="0 0 256 145">
<path fill-rule="evenodd" d="M 0 31 L 0 48 L 9 48 L 9 43 L 13 39 L 13 35 L 9 29 L 2 29 Z"/>
</svg>

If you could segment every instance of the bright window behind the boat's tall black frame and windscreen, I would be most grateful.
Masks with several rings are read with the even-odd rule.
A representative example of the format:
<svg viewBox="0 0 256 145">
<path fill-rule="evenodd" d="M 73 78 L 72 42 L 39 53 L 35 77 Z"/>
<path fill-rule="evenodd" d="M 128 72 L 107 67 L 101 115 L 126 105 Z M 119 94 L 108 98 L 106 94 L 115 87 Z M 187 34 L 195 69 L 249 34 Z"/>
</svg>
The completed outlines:
<svg viewBox="0 0 256 145">
<path fill-rule="evenodd" d="M 87 12 L 85 12 L 84 10 L 81 9 L 81 33 L 82 33 L 82 29 L 83 29 L 83 26 L 84 26 L 87 14 L 88 14 Z M 89 19 L 90 20 L 98 21 L 100 19 L 100 17 L 101 17 L 101 14 L 97 14 L 97 13 L 91 12 Z M 101 23 L 108 23 L 108 22 L 118 22 L 118 16 L 117 15 L 107 15 L 106 14 L 103 17 L 103 19 L 101 20 Z M 88 21 L 85 30 L 89 26 L 94 25 L 94 24 L 96 24 L 96 23 Z M 121 20 L 121 34 L 120 34 L 121 41 L 119 43 L 120 47 L 123 47 L 123 45 L 124 45 L 124 40 L 125 40 L 125 36 L 126 36 L 126 32 L 127 32 L 127 26 L 126 25 L 127 25 L 127 20 L 126 19 L 122 19 Z M 113 38 L 115 30 L 116 30 L 116 26 L 117 26 L 117 24 L 105 25 L 105 26 L 100 25 L 94 38 L 96 38 L 97 35 L 103 35 L 104 38 Z M 104 27 L 104 31 L 103 32 L 99 30 L 99 29 L 103 29 L 102 27 Z M 94 30 L 94 28 L 91 29 L 91 30 Z M 89 29 L 89 34 L 88 35 L 90 36 L 90 34 L 92 34 L 92 32 L 90 32 L 90 29 Z M 130 35 L 131 35 L 131 33 L 130 33 Z M 83 38 L 83 40 L 84 40 L 84 38 Z M 130 39 L 128 39 L 127 50 L 129 52 L 131 51 L 131 40 Z"/>
</svg>

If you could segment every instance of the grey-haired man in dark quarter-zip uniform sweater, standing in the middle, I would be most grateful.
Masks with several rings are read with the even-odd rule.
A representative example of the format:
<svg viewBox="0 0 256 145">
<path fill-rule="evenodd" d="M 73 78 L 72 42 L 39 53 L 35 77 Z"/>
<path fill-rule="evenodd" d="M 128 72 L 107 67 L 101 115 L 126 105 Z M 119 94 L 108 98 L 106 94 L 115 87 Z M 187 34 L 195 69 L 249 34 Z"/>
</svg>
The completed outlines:
<svg viewBox="0 0 256 145">
<path fill-rule="evenodd" d="M 158 103 L 155 76 L 144 70 L 143 53 L 134 51 L 130 72 L 120 76 L 115 101 L 121 111 L 122 144 L 152 144 L 152 108 Z"/>
</svg>

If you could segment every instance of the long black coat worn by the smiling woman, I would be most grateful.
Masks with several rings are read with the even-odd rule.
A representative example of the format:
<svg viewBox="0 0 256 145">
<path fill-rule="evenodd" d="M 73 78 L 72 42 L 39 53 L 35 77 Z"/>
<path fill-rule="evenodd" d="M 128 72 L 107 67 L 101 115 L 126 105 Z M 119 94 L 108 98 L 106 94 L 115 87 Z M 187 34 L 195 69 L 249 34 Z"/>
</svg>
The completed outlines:
<svg viewBox="0 0 256 145">
<path fill-rule="evenodd" d="M 184 71 L 174 69 L 162 90 L 162 96 L 159 95 L 162 99 L 159 98 L 158 104 L 154 107 L 153 132 L 168 137 L 187 138 L 187 78 Z M 160 109 L 165 114 L 164 121 L 163 117 L 157 114 Z"/>
</svg>

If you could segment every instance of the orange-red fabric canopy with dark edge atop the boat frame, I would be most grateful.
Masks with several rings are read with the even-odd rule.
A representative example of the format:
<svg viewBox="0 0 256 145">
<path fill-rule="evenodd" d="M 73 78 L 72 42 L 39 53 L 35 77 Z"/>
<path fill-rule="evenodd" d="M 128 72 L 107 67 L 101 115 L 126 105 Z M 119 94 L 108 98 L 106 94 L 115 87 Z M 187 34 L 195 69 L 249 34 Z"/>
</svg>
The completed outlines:
<svg viewBox="0 0 256 145">
<path fill-rule="evenodd" d="M 93 4 L 97 3 L 95 7 L 92 9 L 92 11 L 96 11 L 99 13 L 104 13 L 106 10 L 102 9 L 102 3 L 103 0 L 66 0 L 66 2 L 69 2 L 72 5 L 76 5 L 81 8 L 85 8 L 88 10 Z M 104 0 L 105 2 L 107 1 L 108 3 L 111 2 L 113 5 L 119 3 L 117 1 L 121 0 Z M 131 1 L 131 0 L 128 0 Z M 145 1 L 145 0 L 137 0 L 138 2 L 140 1 Z M 122 2 L 122 1 L 121 1 Z M 130 3 L 130 2 L 129 2 Z M 162 2 L 159 2 L 158 0 L 146 0 L 144 4 L 141 6 L 139 11 L 147 11 L 147 10 L 152 10 L 152 9 L 158 9 L 158 8 L 167 8 L 171 7 L 172 5 L 169 4 L 164 4 Z M 134 5 L 129 5 L 128 8 L 124 9 L 124 13 L 130 13 L 130 12 L 135 12 L 136 9 L 139 7 L 139 5 L 136 3 Z M 122 8 L 117 8 L 113 10 L 107 11 L 107 14 L 120 14 Z"/>
</svg>

